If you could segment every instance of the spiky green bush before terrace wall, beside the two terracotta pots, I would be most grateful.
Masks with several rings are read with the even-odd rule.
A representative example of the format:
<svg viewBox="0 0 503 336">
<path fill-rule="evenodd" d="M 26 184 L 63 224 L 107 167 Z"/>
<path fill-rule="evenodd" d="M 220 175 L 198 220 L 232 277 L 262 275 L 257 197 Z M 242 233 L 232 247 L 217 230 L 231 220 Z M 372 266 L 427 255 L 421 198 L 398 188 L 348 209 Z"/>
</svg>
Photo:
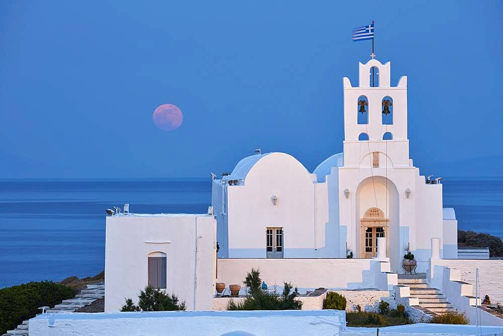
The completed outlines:
<svg viewBox="0 0 503 336">
<path fill-rule="evenodd" d="M 227 310 L 298 310 L 302 309 L 302 302 L 297 300 L 299 291 L 297 288 L 292 292 L 292 284 L 284 283 L 285 288 L 281 296 L 270 293 L 261 288 L 262 279 L 260 272 L 255 269 L 246 275 L 243 281 L 248 287 L 246 298 L 238 303 L 230 299 L 227 303 Z"/>
</svg>

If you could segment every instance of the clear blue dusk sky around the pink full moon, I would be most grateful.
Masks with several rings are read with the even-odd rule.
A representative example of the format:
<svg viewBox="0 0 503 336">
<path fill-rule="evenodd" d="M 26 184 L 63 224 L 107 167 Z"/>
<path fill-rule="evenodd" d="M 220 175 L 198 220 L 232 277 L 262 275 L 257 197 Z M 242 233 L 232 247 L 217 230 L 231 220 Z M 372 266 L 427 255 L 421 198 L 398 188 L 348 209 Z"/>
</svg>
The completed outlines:
<svg viewBox="0 0 503 336">
<path fill-rule="evenodd" d="M 257 147 L 312 171 L 342 151 L 342 77 L 370 58 L 351 30 L 372 19 L 421 173 L 503 175 L 501 7 L 0 2 L 0 178 L 206 177 Z M 164 103 L 176 131 L 152 122 Z"/>
</svg>

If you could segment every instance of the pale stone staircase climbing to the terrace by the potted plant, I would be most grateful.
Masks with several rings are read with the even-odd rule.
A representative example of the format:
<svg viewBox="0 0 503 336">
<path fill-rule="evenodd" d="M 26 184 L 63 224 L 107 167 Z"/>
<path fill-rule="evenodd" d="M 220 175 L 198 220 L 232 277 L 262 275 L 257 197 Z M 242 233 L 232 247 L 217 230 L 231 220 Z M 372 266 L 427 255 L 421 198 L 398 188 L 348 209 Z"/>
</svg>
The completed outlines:
<svg viewBox="0 0 503 336">
<path fill-rule="evenodd" d="M 434 315 L 456 311 L 447 298 L 437 288 L 431 288 L 426 282 L 426 274 L 398 275 L 398 285 L 410 288 L 410 297 L 419 299 L 419 306 L 425 313 Z"/>
</svg>

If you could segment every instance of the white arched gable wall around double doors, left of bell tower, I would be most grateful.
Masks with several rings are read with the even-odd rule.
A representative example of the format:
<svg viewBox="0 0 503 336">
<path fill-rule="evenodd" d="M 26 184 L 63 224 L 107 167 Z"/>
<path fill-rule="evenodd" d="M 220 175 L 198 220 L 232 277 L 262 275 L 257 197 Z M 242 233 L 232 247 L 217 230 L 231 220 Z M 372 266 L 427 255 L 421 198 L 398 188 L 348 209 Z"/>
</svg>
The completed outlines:
<svg viewBox="0 0 503 336">
<path fill-rule="evenodd" d="M 331 253 L 325 248 L 326 182 L 318 183 L 293 156 L 263 155 L 243 184 L 226 188 L 229 258 L 265 258 L 267 227 L 283 227 L 284 258 Z"/>
</svg>

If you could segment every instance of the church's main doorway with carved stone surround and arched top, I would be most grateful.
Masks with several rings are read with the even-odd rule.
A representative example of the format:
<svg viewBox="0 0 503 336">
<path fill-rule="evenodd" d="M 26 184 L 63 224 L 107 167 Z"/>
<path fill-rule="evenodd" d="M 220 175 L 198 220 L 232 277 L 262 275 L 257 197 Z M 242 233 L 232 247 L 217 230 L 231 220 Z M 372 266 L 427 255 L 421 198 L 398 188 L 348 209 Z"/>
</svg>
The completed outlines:
<svg viewBox="0 0 503 336">
<path fill-rule="evenodd" d="M 377 256 L 377 238 L 388 237 L 389 219 L 379 208 L 370 208 L 360 219 L 361 258 Z M 389 238 L 386 239 L 386 257 L 389 256 Z"/>
</svg>

